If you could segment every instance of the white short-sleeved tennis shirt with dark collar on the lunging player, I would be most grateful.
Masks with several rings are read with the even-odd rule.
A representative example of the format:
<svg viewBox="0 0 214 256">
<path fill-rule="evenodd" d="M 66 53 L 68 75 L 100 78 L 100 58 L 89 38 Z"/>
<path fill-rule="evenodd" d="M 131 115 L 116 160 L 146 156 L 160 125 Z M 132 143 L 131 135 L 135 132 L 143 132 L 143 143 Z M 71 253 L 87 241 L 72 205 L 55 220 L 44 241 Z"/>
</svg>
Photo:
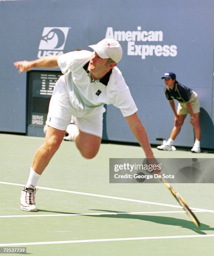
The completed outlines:
<svg viewBox="0 0 214 256">
<path fill-rule="evenodd" d="M 69 99 L 76 109 L 89 110 L 104 104 L 114 105 L 124 117 L 138 110 L 121 71 L 113 67 L 100 80 L 91 80 L 88 62 L 91 51 L 71 51 L 60 55 L 58 66 L 64 74 Z"/>
</svg>

